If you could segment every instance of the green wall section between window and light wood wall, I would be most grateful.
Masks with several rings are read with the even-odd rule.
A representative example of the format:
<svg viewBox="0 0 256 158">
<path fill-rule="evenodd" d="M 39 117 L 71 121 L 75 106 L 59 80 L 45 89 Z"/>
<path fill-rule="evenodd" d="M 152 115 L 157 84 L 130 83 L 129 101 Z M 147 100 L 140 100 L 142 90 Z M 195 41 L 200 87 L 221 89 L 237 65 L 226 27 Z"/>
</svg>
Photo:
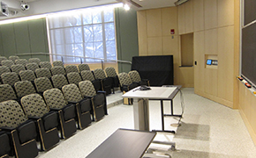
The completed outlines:
<svg viewBox="0 0 256 158">
<path fill-rule="evenodd" d="M 137 11 L 115 10 L 117 30 L 117 59 L 132 61 L 132 56 L 139 56 Z M 118 63 L 119 72 L 129 72 L 131 64 Z"/>
</svg>

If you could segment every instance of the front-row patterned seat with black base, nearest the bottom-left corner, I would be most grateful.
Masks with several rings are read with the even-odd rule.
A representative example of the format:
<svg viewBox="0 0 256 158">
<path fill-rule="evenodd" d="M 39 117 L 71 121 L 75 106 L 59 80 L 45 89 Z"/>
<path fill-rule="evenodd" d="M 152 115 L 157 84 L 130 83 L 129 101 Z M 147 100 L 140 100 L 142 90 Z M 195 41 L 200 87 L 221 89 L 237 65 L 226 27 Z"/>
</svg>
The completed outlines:
<svg viewBox="0 0 256 158">
<path fill-rule="evenodd" d="M 0 111 L 0 129 L 9 135 L 13 143 L 11 154 L 19 158 L 34 158 L 38 154 L 34 121 L 26 118 L 21 106 L 14 100 L 0 103 Z"/>
</svg>

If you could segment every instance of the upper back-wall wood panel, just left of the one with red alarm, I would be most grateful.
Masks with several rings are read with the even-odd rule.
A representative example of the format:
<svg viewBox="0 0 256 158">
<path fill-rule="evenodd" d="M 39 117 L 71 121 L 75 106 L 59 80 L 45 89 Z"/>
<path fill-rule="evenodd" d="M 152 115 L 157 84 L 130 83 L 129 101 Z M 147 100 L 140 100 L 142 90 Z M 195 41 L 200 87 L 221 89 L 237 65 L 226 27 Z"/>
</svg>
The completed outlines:
<svg viewBox="0 0 256 158">
<path fill-rule="evenodd" d="M 147 10 L 147 37 L 162 35 L 161 9 Z"/>
</svg>

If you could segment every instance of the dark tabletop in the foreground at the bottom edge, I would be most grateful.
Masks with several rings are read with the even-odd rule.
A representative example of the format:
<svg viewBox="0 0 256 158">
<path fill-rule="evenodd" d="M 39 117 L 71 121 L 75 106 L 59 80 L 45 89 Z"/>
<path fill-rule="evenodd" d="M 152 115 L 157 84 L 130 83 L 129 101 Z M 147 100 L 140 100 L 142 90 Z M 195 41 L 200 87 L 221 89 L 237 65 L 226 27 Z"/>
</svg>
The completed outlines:
<svg viewBox="0 0 256 158">
<path fill-rule="evenodd" d="M 139 158 L 154 140 L 155 132 L 117 129 L 87 158 Z"/>
</svg>

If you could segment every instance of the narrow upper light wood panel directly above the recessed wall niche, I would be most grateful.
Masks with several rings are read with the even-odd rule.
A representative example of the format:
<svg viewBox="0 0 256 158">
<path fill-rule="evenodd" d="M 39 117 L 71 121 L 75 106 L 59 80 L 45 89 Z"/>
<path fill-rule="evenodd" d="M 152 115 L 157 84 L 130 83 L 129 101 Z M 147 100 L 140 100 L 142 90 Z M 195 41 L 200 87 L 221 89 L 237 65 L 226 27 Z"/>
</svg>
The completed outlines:
<svg viewBox="0 0 256 158">
<path fill-rule="evenodd" d="M 185 33 L 193 32 L 193 1 L 184 4 Z"/>
</svg>

